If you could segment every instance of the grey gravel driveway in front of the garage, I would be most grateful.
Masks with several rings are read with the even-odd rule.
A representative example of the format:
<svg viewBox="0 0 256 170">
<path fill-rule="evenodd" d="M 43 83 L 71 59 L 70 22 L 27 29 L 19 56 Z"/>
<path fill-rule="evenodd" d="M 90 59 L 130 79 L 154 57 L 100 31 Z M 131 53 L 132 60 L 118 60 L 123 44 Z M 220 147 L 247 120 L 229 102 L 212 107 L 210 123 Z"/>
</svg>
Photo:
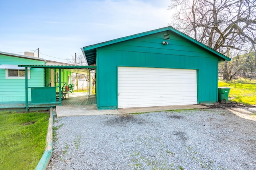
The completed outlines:
<svg viewBox="0 0 256 170">
<path fill-rule="evenodd" d="M 226 109 L 62 117 L 54 127 L 48 170 L 256 169 L 256 121 Z"/>
</svg>

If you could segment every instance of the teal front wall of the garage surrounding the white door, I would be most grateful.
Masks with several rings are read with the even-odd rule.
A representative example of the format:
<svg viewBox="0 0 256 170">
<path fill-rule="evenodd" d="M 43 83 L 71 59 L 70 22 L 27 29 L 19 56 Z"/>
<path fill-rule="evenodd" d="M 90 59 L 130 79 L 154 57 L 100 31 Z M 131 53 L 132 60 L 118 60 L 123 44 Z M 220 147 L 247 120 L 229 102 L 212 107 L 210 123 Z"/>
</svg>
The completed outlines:
<svg viewBox="0 0 256 170">
<path fill-rule="evenodd" d="M 155 33 L 97 49 L 96 95 L 98 109 L 117 108 L 117 67 L 196 69 L 198 103 L 216 102 L 218 57 L 194 43 L 167 31 Z M 168 41 L 163 45 L 162 41 Z"/>
</svg>

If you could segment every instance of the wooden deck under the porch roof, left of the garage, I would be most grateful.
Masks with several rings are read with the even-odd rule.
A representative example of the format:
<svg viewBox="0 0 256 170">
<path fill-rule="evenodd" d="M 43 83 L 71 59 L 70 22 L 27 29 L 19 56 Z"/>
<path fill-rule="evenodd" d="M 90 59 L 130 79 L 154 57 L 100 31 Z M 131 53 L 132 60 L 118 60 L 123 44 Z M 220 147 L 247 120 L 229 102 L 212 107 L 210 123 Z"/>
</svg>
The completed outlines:
<svg viewBox="0 0 256 170">
<path fill-rule="evenodd" d="M 58 100 L 56 101 L 58 102 Z M 29 105 L 31 102 L 28 102 L 29 111 L 34 110 L 46 110 L 50 107 L 58 106 L 59 104 L 33 104 Z M 84 93 L 76 93 L 74 95 L 67 96 L 66 99 L 61 101 L 63 106 L 78 106 L 78 105 L 92 105 L 96 103 L 95 95 L 91 95 L 88 99 Z M 26 103 L 25 102 L 0 102 L 0 111 L 25 111 Z"/>
</svg>

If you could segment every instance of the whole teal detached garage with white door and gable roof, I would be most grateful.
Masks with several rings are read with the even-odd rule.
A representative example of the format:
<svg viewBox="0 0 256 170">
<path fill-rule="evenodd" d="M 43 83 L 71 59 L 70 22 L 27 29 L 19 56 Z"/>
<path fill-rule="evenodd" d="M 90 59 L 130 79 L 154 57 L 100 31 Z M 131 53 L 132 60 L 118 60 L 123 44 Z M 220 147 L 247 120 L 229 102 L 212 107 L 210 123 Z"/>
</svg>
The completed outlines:
<svg viewBox="0 0 256 170">
<path fill-rule="evenodd" d="M 230 58 L 173 27 L 82 48 L 96 66 L 98 109 L 218 101 L 218 63 Z"/>
</svg>

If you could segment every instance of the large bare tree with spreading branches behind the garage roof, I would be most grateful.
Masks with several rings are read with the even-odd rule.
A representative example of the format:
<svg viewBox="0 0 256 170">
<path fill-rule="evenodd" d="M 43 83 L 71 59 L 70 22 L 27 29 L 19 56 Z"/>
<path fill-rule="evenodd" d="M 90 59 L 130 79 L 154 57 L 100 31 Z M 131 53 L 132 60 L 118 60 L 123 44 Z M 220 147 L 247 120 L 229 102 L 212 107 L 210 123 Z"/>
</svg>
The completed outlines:
<svg viewBox="0 0 256 170">
<path fill-rule="evenodd" d="M 222 65 L 222 71 L 230 72 L 226 80 L 238 72 L 240 67 L 232 66 L 239 63 L 238 56 L 256 50 L 255 0 L 171 0 L 169 9 L 176 11 L 173 27 L 228 57 L 237 57 L 235 63 Z"/>
</svg>

